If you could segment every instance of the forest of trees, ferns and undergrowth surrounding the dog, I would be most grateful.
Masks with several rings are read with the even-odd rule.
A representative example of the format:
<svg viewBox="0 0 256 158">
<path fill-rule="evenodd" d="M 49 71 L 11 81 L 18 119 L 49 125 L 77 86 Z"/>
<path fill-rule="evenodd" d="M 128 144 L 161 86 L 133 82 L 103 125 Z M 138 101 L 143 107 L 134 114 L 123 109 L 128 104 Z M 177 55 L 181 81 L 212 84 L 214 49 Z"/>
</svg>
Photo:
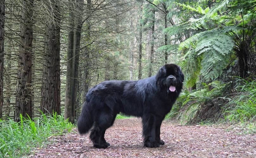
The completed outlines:
<svg viewBox="0 0 256 158">
<path fill-rule="evenodd" d="M 185 81 L 166 119 L 255 132 L 255 11 L 256 0 L 1 0 L 0 129 L 71 131 L 96 84 L 175 63 Z M 0 132 L 0 157 L 26 144 L 11 139 Z"/>
</svg>

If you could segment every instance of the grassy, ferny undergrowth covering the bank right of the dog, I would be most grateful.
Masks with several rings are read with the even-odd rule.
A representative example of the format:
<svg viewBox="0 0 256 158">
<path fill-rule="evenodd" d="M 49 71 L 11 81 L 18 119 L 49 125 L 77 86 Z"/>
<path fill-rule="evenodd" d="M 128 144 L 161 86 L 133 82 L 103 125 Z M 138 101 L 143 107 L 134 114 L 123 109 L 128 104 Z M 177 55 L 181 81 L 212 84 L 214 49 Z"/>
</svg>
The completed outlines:
<svg viewBox="0 0 256 158">
<path fill-rule="evenodd" d="M 181 124 L 189 123 L 198 114 L 205 114 L 206 106 L 221 107 L 220 116 L 215 121 L 229 121 L 230 123 L 242 123 L 250 126 L 251 131 L 255 131 L 256 121 L 256 80 L 239 79 L 236 82 L 235 93 L 224 93 L 226 84 L 214 81 L 204 84 L 204 87 L 197 91 L 183 91 L 171 112 L 167 114 L 167 119 L 176 119 Z M 215 102 L 216 99 L 225 100 L 223 104 Z M 204 108 L 204 109 L 203 109 Z M 201 111 L 200 111 L 201 110 Z M 211 108 L 208 108 L 211 110 Z M 210 112 L 210 111 L 208 111 Z M 197 123 L 208 122 L 208 120 L 199 120 Z"/>
</svg>

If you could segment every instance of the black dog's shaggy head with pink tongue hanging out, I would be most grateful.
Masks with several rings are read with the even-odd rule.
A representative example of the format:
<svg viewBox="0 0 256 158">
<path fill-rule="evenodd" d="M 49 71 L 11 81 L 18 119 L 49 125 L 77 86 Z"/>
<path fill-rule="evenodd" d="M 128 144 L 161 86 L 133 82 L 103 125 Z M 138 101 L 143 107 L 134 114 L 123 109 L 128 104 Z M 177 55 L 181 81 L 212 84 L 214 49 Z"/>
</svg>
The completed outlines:
<svg viewBox="0 0 256 158">
<path fill-rule="evenodd" d="M 165 64 L 157 72 L 157 85 L 167 89 L 167 92 L 176 92 L 182 89 L 184 75 L 176 64 Z"/>
</svg>

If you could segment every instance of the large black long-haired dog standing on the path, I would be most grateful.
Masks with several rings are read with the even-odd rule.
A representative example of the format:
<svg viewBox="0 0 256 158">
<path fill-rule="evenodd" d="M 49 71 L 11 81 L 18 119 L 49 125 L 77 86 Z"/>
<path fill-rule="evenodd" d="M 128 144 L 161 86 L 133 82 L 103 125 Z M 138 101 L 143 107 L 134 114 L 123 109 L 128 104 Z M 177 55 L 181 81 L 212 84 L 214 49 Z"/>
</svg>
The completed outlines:
<svg viewBox="0 0 256 158">
<path fill-rule="evenodd" d="M 170 112 L 182 89 L 184 75 L 176 64 L 162 66 L 156 76 L 138 81 L 104 81 L 91 88 L 78 119 L 78 131 L 85 134 L 91 127 L 90 138 L 96 148 L 107 148 L 104 135 L 113 125 L 116 115 L 142 117 L 144 146 L 164 145 L 160 126 Z"/>
</svg>

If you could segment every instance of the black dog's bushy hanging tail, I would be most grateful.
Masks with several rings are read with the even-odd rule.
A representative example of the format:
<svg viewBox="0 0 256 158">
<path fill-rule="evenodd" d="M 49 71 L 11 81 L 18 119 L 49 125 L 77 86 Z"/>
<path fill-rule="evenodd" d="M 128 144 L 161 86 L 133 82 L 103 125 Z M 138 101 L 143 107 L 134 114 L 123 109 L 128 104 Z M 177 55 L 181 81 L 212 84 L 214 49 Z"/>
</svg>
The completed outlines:
<svg viewBox="0 0 256 158">
<path fill-rule="evenodd" d="M 86 134 L 93 126 L 91 106 L 85 101 L 82 112 L 77 121 L 77 128 L 80 134 Z"/>
</svg>

